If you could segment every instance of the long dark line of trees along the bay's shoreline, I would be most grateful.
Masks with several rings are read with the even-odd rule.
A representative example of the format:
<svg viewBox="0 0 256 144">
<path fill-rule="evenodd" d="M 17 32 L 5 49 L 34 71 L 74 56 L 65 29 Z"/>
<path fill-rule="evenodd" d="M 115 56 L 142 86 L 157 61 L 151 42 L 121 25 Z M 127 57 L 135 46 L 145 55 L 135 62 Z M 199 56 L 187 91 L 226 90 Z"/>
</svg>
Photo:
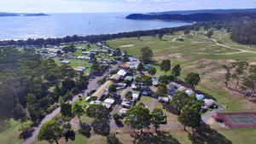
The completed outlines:
<svg viewBox="0 0 256 144">
<path fill-rule="evenodd" d="M 0 41 L 0 46 L 46 46 L 46 45 L 59 45 L 61 43 L 75 43 L 87 41 L 90 43 L 97 43 L 101 41 L 107 41 L 120 37 L 143 37 L 143 36 L 163 36 L 163 34 L 173 33 L 177 31 L 183 31 L 187 28 L 194 26 L 179 26 L 172 28 L 163 28 L 159 30 L 148 30 L 148 31 L 136 31 L 136 32 L 120 32 L 116 34 L 102 34 L 102 35 L 90 35 L 90 36 L 67 36 L 59 38 L 28 38 L 26 40 L 3 40 Z"/>
</svg>

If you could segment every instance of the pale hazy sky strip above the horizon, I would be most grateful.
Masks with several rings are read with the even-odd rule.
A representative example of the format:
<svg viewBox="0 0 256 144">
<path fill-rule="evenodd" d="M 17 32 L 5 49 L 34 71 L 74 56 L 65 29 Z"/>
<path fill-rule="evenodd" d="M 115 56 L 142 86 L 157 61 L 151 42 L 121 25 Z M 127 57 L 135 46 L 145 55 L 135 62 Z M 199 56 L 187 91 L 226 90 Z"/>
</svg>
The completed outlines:
<svg viewBox="0 0 256 144">
<path fill-rule="evenodd" d="M 147 13 L 253 8 L 256 8 L 256 0 L 0 0 L 0 12 L 19 13 Z"/>
</svg>

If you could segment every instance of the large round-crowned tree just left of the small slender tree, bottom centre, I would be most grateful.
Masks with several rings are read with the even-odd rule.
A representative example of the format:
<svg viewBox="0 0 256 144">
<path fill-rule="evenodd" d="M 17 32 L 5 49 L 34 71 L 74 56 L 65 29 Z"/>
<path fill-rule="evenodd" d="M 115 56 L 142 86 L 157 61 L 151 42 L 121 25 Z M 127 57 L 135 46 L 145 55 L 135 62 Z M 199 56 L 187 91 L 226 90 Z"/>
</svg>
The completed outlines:
<svg viewBox="0 0 256 144">
<path fill-rule="evenodd" d="M 143 129 L 149 129 L 150 119 L 151 116 L 148 108 L 143 105 L 136 105 L 127 110 L 125 124 L 131 127 L 131 129 L 143 132 Z"/>
</svg>

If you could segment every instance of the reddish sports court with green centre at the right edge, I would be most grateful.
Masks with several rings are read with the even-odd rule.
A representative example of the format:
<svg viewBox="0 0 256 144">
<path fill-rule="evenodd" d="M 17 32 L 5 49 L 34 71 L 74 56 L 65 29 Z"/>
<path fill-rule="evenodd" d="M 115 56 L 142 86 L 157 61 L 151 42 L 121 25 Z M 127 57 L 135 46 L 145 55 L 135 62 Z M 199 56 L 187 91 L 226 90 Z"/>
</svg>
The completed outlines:
<svg viewBox="0 0 256 144">
<path fill-rule="evenodd" d="M 218 116 L 230 128 L 256 128 L 256 112 L 221 112 Z"/>
</svg>

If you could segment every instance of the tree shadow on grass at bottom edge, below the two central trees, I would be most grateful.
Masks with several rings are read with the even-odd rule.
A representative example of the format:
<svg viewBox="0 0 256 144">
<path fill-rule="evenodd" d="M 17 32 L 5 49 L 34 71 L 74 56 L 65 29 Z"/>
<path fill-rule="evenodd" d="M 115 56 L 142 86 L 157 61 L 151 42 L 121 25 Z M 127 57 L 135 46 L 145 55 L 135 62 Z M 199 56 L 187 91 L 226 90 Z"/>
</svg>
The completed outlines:
<svg viewBox="0 0 256 144">
<path fill-rule="evenodd" d="M 153 133 L 143 133 L 141 135 L 131 135 L 134 144 L 180 144 L 176 138 L 168 132 L 160 131 L 157 135 Z"/>
</svg>

